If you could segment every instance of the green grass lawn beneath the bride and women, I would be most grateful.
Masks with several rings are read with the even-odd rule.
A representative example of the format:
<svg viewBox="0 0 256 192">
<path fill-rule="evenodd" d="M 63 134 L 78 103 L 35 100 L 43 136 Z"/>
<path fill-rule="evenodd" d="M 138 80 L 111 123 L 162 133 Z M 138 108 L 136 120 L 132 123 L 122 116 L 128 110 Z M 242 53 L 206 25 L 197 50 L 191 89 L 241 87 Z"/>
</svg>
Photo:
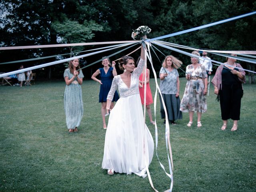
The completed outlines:
<svg viewBox="0 0 256 192">
<path fill-rule="evenodd" d="M 180 78 L 182 98 L 185 78 Z M 154 95 L 154 80 L 150 80 Z M 105 132 L 98 103 L 99 84 L 82 84 L 84 116 L 77 133 L 68 133 L 63 107 L 64 81 L 29 87 L 0 86 L 0 191 L 152 192 L 148 178 L 108 176 L 102 170 Z M 211 86 L 202 128 L 187 128 L 188 114 L 170 125 L 174 162 L 173 192 L 253 192 L 256 184 L 256 86 L 244 85 L 238 131 L 222 131 L 220 106 Z M 158 155 L 168 170 L 159 98 Z M 153 108 L 153 106 L 152 106 Z M 153 110 L 152 110 L 153 111 Z M 146 117 L 146 122 L 149 122 Z M 196 122 L 196 116 L 194 116 Z M 154 126 L 148 127 L 155 138 Z M 149 167 L 162 192 L 170 180 L 154 155 Z"/>
</svg>

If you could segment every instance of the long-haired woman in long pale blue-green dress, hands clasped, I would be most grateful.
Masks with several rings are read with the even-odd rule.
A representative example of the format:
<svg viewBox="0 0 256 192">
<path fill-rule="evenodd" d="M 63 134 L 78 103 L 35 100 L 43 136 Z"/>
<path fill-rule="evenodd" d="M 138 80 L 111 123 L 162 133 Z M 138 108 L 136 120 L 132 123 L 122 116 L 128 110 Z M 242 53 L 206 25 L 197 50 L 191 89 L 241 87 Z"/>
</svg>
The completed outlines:
<svg viewBox="0 0 256 192">
<path fill-rule="evenodd" d="M 84 74 L 80 70 L 79 60 L 71 60 L 68 68 L 64 71 L 66 88 L 64 92 L 64 110 L 66 124 L 69 132 L 77 132 L 82 120 L 84 106 L 82 100 L 82 89 Z"/>
</svg>

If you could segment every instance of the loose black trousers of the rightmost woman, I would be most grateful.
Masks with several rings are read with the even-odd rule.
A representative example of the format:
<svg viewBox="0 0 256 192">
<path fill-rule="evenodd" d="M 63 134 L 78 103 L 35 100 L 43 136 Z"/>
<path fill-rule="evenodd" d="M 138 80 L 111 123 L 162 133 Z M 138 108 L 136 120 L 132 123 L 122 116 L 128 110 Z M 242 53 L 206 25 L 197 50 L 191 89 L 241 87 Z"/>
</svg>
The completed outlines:
<svg viewBox="0 0 256 192">
<path fill-rule="evenodd" d="M 240 120 L 242 84 L 223 84 L 219 95 L 222 120 Z"/>
</svg>

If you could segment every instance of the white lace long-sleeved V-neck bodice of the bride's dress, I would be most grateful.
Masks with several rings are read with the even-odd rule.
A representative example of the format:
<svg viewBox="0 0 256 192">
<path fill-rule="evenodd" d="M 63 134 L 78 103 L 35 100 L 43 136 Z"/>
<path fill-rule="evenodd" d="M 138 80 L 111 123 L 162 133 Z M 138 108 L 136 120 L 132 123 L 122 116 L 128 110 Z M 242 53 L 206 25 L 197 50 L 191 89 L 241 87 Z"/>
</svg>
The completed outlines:
<svg viewBox="0 0 256 192">
<path fill-rule="evenodd" d="M 118 88 L 120 98 L 127 97 L 133 94 L 139 94 L 139 76 L 144 68 L 145 61 L 140 59 L 140 62 L 136 69 L 134 69 L 131 75 L 130 88 L 123 82 L 120 75 L 114 77 L 110 91 L 108 92 L 107 99 L 112 100 L 116 89 Z"/>
</svg>

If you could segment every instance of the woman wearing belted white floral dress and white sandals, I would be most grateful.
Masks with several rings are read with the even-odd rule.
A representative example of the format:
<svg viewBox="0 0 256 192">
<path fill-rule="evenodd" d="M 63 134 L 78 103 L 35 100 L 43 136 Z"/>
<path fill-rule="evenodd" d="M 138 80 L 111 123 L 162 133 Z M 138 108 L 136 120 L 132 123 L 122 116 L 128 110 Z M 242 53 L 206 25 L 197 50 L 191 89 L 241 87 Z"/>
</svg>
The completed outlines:
<svg viewBox="0 0 256 192">
<path fill-rule="evenodd" d="M 192 52 L 192 54 L 200 56 L 198 52 Z M 198 63 L 197 57 L 191 57 L 192 64 L 186 67 L 186 88 L 183 98 L 180 103 L 180 110 L 182 112 L 189 112 L 188 127 L 191 127 L 193 123 L 194 112 L 197 112 L 197 127 L 201 127 L 202 113 L 206 112 L 207 104 L 207 74 L 203 65 Z"/>
</svg>

